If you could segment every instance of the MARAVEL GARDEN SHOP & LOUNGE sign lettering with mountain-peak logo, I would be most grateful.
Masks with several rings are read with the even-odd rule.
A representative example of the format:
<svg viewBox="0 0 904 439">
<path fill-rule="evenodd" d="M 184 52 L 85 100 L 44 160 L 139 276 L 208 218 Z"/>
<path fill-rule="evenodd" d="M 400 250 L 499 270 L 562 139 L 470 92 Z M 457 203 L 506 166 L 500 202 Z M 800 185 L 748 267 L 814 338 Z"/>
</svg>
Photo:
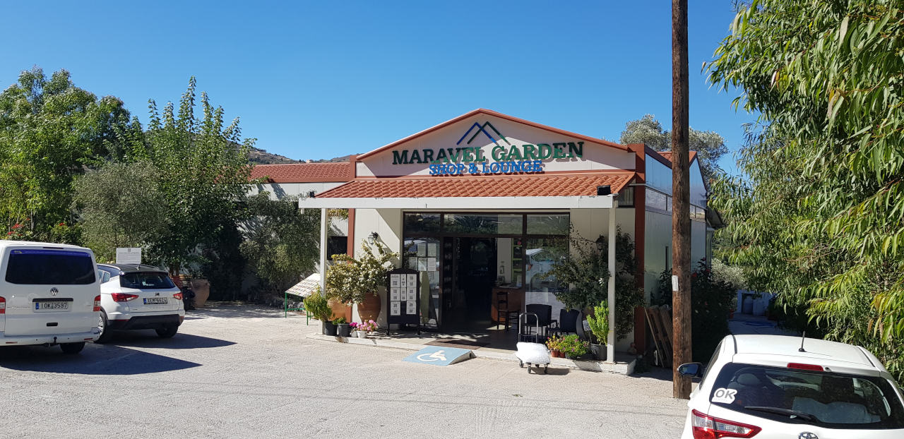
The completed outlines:
<svg viewBox="0 0 904 439">
<path fill-rule="evenodd" d="M 490 157 L 484 155 L 484 150 L 480 146 L 457 146 L 436 150 L 429 148 L 403 149 L 392 152 L 392 164 L 429 163 L 430 175 L 541 173 L 545 161 L 581 157 L 584 153 L 583 142 L 512 145 L 489 122 L 483 126 L 477 125 L 475 122 L 465 135 L 461 136 L 456 145 L 461 145 L 466 136 L 471 134 L 475 128 L 476 132 L 467 141 L 467 144 L 470 144 L 481 133 L 486 135 L 495 145 L 490 150 Z M 499 138 L 490 135 L 487 128 L 492 129 Z M 500 145 L 500 142 L 508 145 Z M 493 159 L 492 162 L 490 158 Z"/>
</svg>

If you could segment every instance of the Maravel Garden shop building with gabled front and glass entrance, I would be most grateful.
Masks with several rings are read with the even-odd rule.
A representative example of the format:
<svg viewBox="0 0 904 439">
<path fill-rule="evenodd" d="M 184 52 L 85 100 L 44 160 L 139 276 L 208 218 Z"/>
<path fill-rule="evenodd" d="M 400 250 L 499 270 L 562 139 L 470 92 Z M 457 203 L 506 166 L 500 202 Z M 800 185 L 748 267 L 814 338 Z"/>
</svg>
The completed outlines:
<svg viewBox="0 0 904 439">
<path fill-rule="evenodd" d="M 609 266 L 615 265 L 616 230 L 632 236 L 638 281 L 649 301 L 671 266 L 670 159 L 645 145 L 618 145 L 476 109 L 352 156 L 350 181 L 315 191 L 299 206 L 321 209 L 324 218 L 326 209 L 349 209 L 355 256 L 367 239 L 400 252 L 400 265 L 424 279 L 418 293 L 424 328 L 489 330 L 501 292 L 522 308 L 550 304 L 558 318 L 562 304 L 553 292 L 565 285 L 542 275 L 572 251 L 573 234 L 605 239 Z M 692 260 L 709 260 L 707 195 L 693 154 L 691 203 Z M 608 291 L 612 320 L 614 277 Z M 384 305 L 382 322 L 390 312 Z M 610 332 L 615 350 L 627 350 L 632 341 L 643 347 L 642 314 L 635 320 L 636 336 L 611 343 Z"/>
</svg>

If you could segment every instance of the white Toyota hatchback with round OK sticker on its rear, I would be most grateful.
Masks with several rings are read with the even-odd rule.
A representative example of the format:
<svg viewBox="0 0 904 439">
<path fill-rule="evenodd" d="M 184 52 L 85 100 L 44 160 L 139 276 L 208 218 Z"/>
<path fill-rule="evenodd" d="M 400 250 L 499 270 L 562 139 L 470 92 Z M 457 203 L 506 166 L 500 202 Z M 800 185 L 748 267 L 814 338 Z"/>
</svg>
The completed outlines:
<svg viewBox="0 0 904 439">
<path fill-rule="evenodd" d="M 860 346 L 779 335 L 729 335 L 691 393 L 682 439 L 904 438 L 904 394 Z"/>
</svg>

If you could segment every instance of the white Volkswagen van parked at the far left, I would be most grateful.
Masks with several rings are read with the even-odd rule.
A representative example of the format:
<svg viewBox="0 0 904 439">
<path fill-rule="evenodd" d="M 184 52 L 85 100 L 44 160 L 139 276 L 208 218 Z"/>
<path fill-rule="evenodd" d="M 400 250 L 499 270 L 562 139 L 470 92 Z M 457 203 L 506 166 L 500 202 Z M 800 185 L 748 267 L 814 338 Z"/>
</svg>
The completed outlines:
<svg viewBox="0 0 904 439">
<path fill-rule="evenodd" d="M 0 346 L 59 344 L 74 354 L 100 336 L 89 248 L 0 240 L 0 275 Z"/>
</svg>

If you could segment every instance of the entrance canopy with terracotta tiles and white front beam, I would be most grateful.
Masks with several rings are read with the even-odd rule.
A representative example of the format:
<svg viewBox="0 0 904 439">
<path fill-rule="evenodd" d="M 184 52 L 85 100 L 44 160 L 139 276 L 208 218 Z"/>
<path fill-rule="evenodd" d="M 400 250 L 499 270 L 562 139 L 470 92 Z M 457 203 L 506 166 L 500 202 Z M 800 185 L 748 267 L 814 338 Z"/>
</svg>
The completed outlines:
<svg viewBox="0 0 904 439">
<path fill-rule="evenodd" d="M 369 178 L 347 182 L 302 208 L 330 209 L 609 209 L 634 173 L 557 173 L 478 177 Z"/>
</svg>

